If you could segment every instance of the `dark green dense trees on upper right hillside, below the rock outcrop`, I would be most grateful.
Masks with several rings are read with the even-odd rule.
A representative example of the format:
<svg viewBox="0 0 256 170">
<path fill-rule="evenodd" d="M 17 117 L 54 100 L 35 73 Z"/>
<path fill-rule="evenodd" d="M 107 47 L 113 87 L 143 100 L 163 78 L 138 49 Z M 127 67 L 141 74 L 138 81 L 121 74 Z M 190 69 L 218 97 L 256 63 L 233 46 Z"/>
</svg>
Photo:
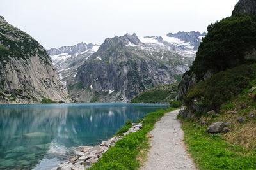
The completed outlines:
<svg viewBox="0 0 256 170">
<path fill-rule="evenodd" d="M 246 52 L 256 45 L 256 15 L 227 17 L 207 27 L 191 70 L 202 78 L 207 70 L 214 73 L 244 62 Z"/>
</svg>

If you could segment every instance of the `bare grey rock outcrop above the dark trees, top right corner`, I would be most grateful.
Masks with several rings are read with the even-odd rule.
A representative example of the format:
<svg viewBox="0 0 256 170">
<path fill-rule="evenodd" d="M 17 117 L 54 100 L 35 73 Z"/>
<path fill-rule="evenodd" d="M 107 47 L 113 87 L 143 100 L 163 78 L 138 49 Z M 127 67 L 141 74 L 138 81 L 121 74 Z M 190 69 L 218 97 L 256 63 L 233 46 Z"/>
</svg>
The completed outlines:
<svg viewBox="0 0 256 170">
<path fill-rule="evenodd" d="M 256 13 L 256 1 L 255 0 L 240 0 L 234 10 L 232 11 L 232 15 L 244 13 Z"/>
</svg>

